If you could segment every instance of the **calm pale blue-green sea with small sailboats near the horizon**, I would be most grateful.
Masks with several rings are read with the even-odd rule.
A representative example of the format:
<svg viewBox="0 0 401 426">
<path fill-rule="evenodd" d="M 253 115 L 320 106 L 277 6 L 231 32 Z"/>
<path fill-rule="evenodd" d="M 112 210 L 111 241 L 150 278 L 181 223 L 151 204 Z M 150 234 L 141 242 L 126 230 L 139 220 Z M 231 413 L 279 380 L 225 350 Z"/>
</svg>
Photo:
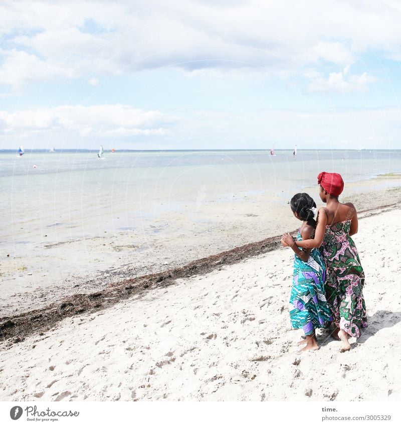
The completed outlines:
<svg viewBox="0 0 401 426">
<path fill-rule="evenodd" d="M 133 229 L 207 201 L 271 194 L 287 203 L 319 172 L 347 182 L 401 172 L 399 151 L 0 151 L 1 245 L 27 244 L 57 228 L 60 240 Z M 378 180 L 377 188 L 393 185 Z M 202 215 L 196 219 L 202 220 Z"/>
</svg>

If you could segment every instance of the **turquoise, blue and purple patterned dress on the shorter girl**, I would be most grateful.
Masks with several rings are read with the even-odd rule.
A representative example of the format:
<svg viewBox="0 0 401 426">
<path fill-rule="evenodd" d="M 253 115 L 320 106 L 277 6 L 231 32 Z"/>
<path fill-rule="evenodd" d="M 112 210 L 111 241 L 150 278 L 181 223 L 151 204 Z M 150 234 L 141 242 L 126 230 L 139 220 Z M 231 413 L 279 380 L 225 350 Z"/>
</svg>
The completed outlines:
<svg viewBox="0 0 401 426">
<path fill-rule="evenodd" d="M 302 241 L 300 233 L 297 240 Z M 292 327 L 302 328 L 306 336 L 331 321 L 331 311 L 324 293 L 325 275 L 326 266 L 318 249 L 312 248 L 307 262 L 294 254 L 290 320 Z"/>
</svg>

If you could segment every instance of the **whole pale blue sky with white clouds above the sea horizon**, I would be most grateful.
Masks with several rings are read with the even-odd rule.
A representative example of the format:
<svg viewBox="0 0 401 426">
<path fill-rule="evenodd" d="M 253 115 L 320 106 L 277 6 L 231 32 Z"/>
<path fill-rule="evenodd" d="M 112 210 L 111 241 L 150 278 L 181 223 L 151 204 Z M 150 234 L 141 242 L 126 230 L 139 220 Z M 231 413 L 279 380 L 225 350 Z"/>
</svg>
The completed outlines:
<svg viewBox="0 0 401 426">
<path fill-rule="evenodd" d="M 401 149 L 401 2 L 0 2 L 0 149 Z"/>
</svg>

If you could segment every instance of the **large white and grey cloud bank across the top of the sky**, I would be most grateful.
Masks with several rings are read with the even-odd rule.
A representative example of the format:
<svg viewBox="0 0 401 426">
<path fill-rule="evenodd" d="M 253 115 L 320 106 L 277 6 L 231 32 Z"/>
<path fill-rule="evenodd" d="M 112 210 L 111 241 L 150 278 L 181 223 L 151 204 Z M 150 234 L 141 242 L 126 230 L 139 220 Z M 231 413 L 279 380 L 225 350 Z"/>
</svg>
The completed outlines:
<svg viewBox="0 0 401 426">
<path fill-rule="evenodd" d="M 15 87 L 164 66 L 302 75 L 304 67 L 343 68 L 367 49 L 401 55 L 400 5 L 389 1 L 26 1 L 3 3 L 0 16 L 7 36 L 0 83 Z M 88 22 L 100 30 L 89 31 Z M 371 81 L 359 77 L 321 86 L 348 90 Z"/>
</svg>

